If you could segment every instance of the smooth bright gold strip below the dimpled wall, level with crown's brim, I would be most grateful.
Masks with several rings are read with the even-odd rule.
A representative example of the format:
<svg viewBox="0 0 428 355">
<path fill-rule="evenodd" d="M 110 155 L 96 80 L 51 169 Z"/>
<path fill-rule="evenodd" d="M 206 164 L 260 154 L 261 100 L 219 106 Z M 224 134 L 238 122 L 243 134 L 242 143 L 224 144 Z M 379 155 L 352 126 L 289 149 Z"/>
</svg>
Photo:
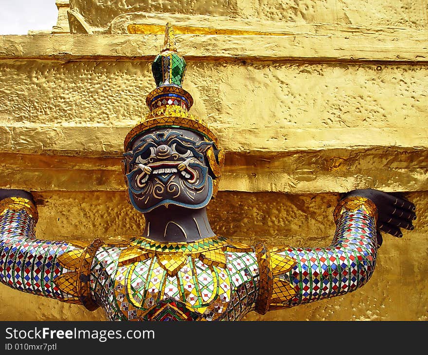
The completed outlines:
<svg viewBox="0 0 428 355">
<path fill-rule="evenodd" d="M 123 153 L 131 127 L 18 125 L 0 126 L 0 152 L 78 156 Z M 426 149 L 428 127 L 238 128 L 222 125 L 214 133 L 230 152 L 294 152 L 373 147 Z"/>
</svg>

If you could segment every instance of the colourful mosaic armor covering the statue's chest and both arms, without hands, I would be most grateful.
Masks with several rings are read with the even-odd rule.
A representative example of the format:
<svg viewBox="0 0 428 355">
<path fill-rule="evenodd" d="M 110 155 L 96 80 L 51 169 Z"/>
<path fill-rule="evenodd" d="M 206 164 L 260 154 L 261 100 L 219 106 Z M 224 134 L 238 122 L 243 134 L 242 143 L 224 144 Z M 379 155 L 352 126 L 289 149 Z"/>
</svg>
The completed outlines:
<svg viewBox="0 0 428 355">
<path fill-rule="evenodd" d="M 223 237 L 162 243 L 136 237 L 35 239 L 36 207 L 0 202 L 0 280 L 63 302 L 101 306 L 109 320 L 241 320 L 248 312 L 343 295 L 375 268 L 376 208 L 364 197 L 340 201 L 328 248 L 250 247 Z"/>
</svg>

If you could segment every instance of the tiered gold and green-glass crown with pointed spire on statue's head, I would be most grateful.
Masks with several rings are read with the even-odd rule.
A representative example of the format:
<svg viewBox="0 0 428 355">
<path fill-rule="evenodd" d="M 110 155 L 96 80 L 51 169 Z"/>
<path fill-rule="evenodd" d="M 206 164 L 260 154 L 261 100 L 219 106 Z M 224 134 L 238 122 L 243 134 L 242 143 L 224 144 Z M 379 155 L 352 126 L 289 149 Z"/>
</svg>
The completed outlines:
<svg viewBox="0 0 428 355">
<path fill-rule="evenodd" d="M 163 127 L 196 131 L 218 147 L 214 133 L 201 119 L 189 113 L 193 98 L 181 87 L 186 73 L 186 61 L 177 52 L 174 31 L 169 23 L 165 28 L 163 49 L 153 60 L 152 73 L 157 87 L 146 97 L 150 112 L 126 135 L 125 152 L 144 132 Z"/>
</svg>

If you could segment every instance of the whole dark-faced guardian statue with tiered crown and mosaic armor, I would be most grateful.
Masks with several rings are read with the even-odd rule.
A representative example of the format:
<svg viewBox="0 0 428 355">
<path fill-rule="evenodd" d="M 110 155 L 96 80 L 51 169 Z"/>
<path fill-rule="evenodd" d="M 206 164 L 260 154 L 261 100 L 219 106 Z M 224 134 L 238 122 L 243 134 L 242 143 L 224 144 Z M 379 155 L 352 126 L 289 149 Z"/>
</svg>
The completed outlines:
<svg viewBox="0 0 428 355">
<path fill-rule="evenodd" d="M 108 320 L 241 320 L 353 292 L 375 270 L 381 232 L 412 230 L 415 206 L 377 190 L 354 190 L 334 211 L 328 248 L 254 246 L 217 235 L 206 207 L 218 190 L 224 152 L 189 113 L 186 71 L 174 32 L 152 64 L 149 112 L 126 135 L 127 199 L 143 235 L 123 243 L 36 239 L 37 209 L 22 190 L 0 190 L 0 280 Z"/>
</svg>

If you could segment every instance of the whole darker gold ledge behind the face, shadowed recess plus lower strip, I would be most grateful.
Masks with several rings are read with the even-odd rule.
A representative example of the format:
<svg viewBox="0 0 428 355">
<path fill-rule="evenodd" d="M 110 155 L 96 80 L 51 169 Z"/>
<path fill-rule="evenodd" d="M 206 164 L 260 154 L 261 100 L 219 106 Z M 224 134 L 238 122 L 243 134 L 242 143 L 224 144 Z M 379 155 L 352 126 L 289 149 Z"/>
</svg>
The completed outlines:
<svg viewBox="0 0 428 355">
<path fill-rule="evenodd" d="M 0 154 L 0 188 L 124 191 L 119 157 Z M 428 149 L 226 154 L 221 191 L 292 194 L 428 190 Z"/>
</svg>

